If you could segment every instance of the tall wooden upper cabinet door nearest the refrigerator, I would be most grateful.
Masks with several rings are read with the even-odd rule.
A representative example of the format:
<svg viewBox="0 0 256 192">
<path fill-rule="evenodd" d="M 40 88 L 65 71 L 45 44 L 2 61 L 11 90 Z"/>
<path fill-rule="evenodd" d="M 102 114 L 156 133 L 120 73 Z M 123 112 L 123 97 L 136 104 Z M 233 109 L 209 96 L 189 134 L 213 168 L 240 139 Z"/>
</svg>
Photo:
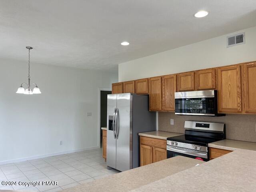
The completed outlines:
<svg viewBox="0 0 256 192">
<path fill-rule="evenodd" d="M 149 78 L 149 110 L 162 110 L 161 77 Z"/>
</svg>

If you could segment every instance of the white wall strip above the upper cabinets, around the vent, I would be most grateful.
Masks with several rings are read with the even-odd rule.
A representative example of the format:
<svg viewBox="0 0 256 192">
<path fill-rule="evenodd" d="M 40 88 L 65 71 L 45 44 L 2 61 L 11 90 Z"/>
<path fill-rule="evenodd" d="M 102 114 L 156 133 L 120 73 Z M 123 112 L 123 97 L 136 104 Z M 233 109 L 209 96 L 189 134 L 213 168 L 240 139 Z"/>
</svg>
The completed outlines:
<svg viewBox="0 0 256 192">
<path fill-rule="evenodd" d="M 226 36 L 245 32 L 245 44 L 226 47 Z M 256 60 L 256 27 L 119 64 L 119 82 Z M 132 46 L 132 45 L 130 45 Z"/>
</svg>

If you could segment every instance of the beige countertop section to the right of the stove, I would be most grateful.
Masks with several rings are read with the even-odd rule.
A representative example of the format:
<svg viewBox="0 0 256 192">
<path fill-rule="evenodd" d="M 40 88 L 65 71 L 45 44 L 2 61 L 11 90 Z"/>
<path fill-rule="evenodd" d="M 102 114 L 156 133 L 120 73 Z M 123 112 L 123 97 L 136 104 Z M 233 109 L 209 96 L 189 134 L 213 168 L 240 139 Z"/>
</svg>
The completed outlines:
<svg viewBox="0 0 256 192">
<path fill-rule="evenodd" d="M 224 140 L 216 141 L 213 143 L 209 143 L 208 146 L 218 148 L 218 149 L 230 150 L 230 151 L 234 151 L 238 149 L 256 151 L 256 143 L 254 142 L 238 141 L 238 140 L 231 140 L 231 139 L 224 139 Z"/>
</svg>

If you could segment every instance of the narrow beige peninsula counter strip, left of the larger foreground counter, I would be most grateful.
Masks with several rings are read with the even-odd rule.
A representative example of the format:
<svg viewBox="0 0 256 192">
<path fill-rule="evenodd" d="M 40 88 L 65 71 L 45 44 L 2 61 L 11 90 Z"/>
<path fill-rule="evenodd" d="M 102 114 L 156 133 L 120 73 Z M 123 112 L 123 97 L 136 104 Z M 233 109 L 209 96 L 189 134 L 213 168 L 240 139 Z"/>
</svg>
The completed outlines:
<svg viewBox="0 0 256 192">
<path fill-rule="evenodd" d="M 64 192 L 127 192 L 202 163 L 200 160 L 177 156 L 74 186 Z"/>
</svg>

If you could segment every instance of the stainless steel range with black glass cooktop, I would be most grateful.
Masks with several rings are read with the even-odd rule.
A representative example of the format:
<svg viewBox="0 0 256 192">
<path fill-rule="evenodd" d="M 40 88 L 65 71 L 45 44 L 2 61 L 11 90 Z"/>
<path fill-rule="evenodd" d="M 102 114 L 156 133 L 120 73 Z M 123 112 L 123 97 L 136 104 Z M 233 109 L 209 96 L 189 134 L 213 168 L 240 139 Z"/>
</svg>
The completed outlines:
<svg viewBox="0 0 256 192">
<path fill-rule="evenodd" d="M 226 138 L 224 123 L 185 121 L 184 128 L 184 135 L 167 138 L 167 158 L 181 155 L 208 161 L 208 143 Z"/>
</svg>

